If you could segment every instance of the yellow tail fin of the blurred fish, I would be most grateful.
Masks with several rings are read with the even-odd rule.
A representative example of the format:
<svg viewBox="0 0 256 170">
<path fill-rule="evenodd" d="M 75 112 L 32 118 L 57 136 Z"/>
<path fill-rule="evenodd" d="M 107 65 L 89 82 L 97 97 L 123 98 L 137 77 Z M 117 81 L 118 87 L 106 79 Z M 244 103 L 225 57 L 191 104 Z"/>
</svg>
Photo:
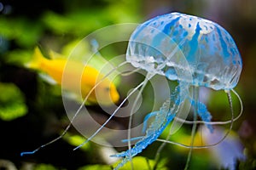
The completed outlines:
<svg viewBox="0 0 256 170">
<path fill-rule="evenodd" d="M 26 64 L 26 67 L 31 69 L 38 69 L 41 67 L 42 63 L 45 60 L 46 59 L 44 58 L 44 55 L 42 54 L 41 50 L 38 47 L 36 47 L 32 55 L 32 60 Z"/>
</svg>

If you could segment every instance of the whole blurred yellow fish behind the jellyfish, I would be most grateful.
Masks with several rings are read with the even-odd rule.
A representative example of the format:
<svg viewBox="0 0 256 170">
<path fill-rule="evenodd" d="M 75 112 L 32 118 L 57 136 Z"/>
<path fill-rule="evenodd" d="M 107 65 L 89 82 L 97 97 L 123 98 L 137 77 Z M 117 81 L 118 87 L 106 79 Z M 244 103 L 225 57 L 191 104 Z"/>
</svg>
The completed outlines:
<svg viewBox="0 0 256 170">
<path fill-rule="evenodd" d="M 52 52 L 50 55 L 58 54 Z M 52 57 L 54 58 L 54 56 Z M 35 70 L 44 71 L 52 77 L 55 82 L 60 84 L 62 86 L 61 88 L 67 89 L 75 94 L 82 94 L 83 98 L 85 98 L 87 94 L 90 93 L 90 90 L 96 86 L 97 82 L 100 82 L 104 77 L 104 75 L 95 68 L 90 65 L 83 65 L 78 61 L 46 59 L 38 47 L 34 50 L 32 61 L 26 66 Z M 62 78 L 63 73 L 65 74 L 65 78 Z M 119 93 L 108 77 L 98 83 L 88 97 L 90 104 L 111 105 L 118 102 L 118 100 Z"/>
</svg>

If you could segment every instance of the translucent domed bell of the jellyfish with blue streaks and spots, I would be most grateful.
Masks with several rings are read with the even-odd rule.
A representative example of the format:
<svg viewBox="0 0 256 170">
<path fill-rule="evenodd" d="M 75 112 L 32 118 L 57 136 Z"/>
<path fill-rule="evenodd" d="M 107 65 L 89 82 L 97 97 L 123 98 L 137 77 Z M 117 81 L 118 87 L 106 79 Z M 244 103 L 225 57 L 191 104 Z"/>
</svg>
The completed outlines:
<svg viewBox="0 0 256 170">
<path fill-rule="evenodd" d="M 148 47 L 142 42 L 148 42 Z M 173 61 L 173 49 L 177 46 L 180 50 L 175 55 L 183 53 L 187 65 Z M 138 26 L 131 35 L 126 59 L 148 71 L 166 63 L 170 70 L 160 74 L 172 73 L 172 79 L 177 79 L 173 67 L 189 66 L 184 70 L 191 72 L 192 79 L 178 77 L 180 80 L 215 90 L 235 88 L 242 65 L 241 55 L 228 31 L 210 20 L 180 13 L 164 14 Z"/>
</svg>

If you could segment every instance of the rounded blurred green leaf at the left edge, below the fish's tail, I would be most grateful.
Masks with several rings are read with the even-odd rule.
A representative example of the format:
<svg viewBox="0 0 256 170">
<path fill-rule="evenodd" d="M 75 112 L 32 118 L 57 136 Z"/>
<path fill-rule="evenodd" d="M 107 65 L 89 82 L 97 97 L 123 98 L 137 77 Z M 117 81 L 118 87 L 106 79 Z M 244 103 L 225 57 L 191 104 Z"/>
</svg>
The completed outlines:
<svg viewBox="0 0 256 170">
<path fill-rule="evenodd" d="M 25 116 L 27 107 L 19 88 L 12 83 L 0 83 L 0 118 L 12 121 Z"/>
</svg>

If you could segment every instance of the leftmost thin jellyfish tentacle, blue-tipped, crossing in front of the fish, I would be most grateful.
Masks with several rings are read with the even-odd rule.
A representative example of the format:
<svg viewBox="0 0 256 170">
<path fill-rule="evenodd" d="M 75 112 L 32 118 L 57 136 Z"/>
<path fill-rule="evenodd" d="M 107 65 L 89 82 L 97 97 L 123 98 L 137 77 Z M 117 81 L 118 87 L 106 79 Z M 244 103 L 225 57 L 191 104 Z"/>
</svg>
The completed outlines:
<svg viewBox="0 0 256 170">
<path fill-rule="evenodd" d="M 76 118 L 76 116 L 78 116 L 79 112 L 82 110 L 85 102 L 87 101 L 87 99 L 89 98 L 90 94 L 95 90 L 95 88 L 102 82 L 104 81 L 109 75 L 111 75 L 113 73 L 113 71 L 116 71 L 120 66 L 127 64 L 127 62 L 121 63 L 120 65 L 118 65 L 117 67 L 114 67 L 111 71 L 108 72 L 108 74 L 106 74 L 104 77 L 102 77 L 101 80 L 99 80 L 98 82 L 96 82 L 96 85 L 90 89 L 90 92 L 86 95 L 86 97 L 84 98 L 82 104 L 79 106 L 79 109 L 75 112 L 73 118 L 71 119 L 71 121 L 69 122 L 69 124 L 67 125 L 67 127 L 65 128 L 64 132 L 61 133 L 61 135 L 55 139 L 52 139 L 51 141 L 49 141 L 46 144 L 42 144 L 41 146 L 39 146 L 36 150 L 32 150 L 32 151 L 25 151 L 25 152 L 21 152 L 20 156 L 24 156 L 24 155 L 31 155 L 36 153 L 38 150 L 44 148 L 45 146 L 49 145 L 49 144 L 53 144 L 55 143 L 55 141 L 61 139 L 68 131 L 68 129 L 71 127 L 71 125 L 73 124 L 74 119 Z M 81 145 L 81 144 L 80 144 Z M 82 145 L 81 145 L 82 146 Z M 77 149 L 77 148 L 76 148 Z"/>
</svg>

